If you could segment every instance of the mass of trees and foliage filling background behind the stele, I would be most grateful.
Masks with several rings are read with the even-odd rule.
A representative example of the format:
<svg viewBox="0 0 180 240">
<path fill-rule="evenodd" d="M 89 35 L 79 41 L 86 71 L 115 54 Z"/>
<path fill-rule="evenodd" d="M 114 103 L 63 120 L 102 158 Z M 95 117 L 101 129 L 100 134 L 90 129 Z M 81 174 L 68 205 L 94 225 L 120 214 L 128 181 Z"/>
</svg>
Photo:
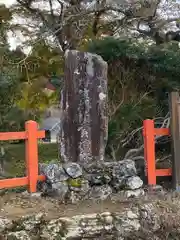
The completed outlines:
<svg viewBox="0 0 180 240">
<path fill-rule="evenodd" d="M 100 54 L 109 64 L 107 153 L 123 156 L 141 144 L 143 119 L 162 124 L 167 93 L 179 89 L 179 8 L 174 0 L 17 0 L 9 9 L 1 6 L 1 69 L 8 76 L 1 99 L 16 106 L 23 121 L 39 120 L 56 100 L 43 87 L 50 76 L 63 74 L 64 51 Z M 24 36 L 16 51 L 9 50 L 9 31 Z M 27 47 L 28 55 L 22 51 Z"/>
</svg>

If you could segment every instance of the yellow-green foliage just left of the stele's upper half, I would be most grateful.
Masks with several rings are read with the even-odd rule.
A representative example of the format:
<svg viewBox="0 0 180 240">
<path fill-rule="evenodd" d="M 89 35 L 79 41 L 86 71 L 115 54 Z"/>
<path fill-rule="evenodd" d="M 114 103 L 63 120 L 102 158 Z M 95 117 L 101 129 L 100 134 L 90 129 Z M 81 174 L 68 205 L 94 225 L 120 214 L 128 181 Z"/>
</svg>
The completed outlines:
<svg viewBox="0 0 180 240">
<path fill-rule="evenodd" d="M 43 40 L 34 44 L 31 54 L 20 63 L 22 98 L 18 102 L 21 109 L 29 113 L 34 112 L 34 117 L 40 117 L 48 106 L 57 100 L 58 94 L 47 94 L 44 88 L 54 73 L 62 74 L 63 58 L 56 50 L 51 49 Z M 56 81 L 59 90 L 61 80 Z"/>
</svg>

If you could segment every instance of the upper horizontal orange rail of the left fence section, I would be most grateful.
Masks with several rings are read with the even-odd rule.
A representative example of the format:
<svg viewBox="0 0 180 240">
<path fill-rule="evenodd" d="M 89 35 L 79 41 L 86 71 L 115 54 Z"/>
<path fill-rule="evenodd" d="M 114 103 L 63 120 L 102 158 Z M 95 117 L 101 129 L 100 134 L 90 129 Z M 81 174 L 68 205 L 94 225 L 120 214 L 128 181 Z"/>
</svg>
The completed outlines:
<svg viewBox="0 0 180 240">
<path fill-rule="evenodd" d="M 45 131 L 38 131 L 37 132 L 37 138 L 44 138 L 45 137 Z M 28 134 L 27 132 L 4 132 L 0 133 L 0 141 L 6 141 L 6 140 L 19 140 L 19 139 L 27 139 Z"/>
</svg>

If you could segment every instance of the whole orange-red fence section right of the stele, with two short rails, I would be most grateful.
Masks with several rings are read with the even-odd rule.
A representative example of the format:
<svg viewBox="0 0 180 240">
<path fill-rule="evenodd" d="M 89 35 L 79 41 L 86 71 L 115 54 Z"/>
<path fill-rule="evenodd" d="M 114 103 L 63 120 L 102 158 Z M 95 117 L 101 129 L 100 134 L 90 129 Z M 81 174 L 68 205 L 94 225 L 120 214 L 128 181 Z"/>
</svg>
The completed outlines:
<svg viewBox="0 0 180 240">
<path fill-rule="evenodd" d="M 156 169 L 155 136 L 170 135 L 169 128 L 154 128 L 154 121 L 147 119 L 143 122 L 144 158 L 149 185 L 156 185 L 157 176 L 171 176 L 172 170 Z"/>
</svg>

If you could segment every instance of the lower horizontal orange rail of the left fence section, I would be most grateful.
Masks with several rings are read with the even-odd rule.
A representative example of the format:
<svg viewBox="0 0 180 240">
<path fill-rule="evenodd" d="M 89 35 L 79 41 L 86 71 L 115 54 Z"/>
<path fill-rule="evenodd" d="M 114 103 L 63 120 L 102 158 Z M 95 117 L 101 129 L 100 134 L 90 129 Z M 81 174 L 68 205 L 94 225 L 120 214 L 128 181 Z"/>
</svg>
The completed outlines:
<svg viewBox="0 0 180 240">
<path fill-rule="evenodd" d="M 44 181 L 45 176 L 39 175 L 38 180 Z M 0 180 L 0 188 L 14 188 L 28 185 L 28 177 L 11 178 Z"/>
</svg>

